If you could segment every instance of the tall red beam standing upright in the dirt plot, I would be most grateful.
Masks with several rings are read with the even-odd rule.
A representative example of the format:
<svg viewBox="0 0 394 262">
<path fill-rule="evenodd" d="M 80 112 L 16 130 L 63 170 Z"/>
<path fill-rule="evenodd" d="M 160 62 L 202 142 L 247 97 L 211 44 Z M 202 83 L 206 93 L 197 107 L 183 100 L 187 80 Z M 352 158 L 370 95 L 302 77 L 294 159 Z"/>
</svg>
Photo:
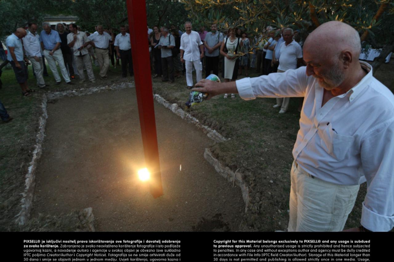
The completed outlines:
<svg viewBox="0 0 394 262">
<path fill-rule="evenodd" d="M 139 124 L 145 163 L 151 173 L 150 190 L 154 198 L 162 196 L 159 149 L 157 146 L 156 122 L 154 119 L 151 63 L 147 45 L 147 16 L 145 1 L 126 0 L 130 41 L 133 56 L 134 81 L 136 83 Z"/>
</svg>

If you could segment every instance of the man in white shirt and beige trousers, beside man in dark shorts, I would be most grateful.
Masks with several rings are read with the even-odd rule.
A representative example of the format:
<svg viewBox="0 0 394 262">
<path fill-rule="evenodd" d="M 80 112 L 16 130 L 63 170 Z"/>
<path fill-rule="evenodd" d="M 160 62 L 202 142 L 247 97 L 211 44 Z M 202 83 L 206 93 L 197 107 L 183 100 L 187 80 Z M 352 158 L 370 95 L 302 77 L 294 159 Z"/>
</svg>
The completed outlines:
<svg viewBox="0 0 394 262">
<path fill-rule="evenodd" d="M 44 64 L 43 57 L 41 55 L 40 36 L 36 32 L 37 24 L 29 24 L 27 35 L 22 39 L 22 41 L 26 56 L 32 63 L 33 70 L 35 72 L 35 78 L 37 79 L 37 85 L 38 87 L 43 88 L 48 85 L 45 85 L 43 77 Z"/>
</svg>

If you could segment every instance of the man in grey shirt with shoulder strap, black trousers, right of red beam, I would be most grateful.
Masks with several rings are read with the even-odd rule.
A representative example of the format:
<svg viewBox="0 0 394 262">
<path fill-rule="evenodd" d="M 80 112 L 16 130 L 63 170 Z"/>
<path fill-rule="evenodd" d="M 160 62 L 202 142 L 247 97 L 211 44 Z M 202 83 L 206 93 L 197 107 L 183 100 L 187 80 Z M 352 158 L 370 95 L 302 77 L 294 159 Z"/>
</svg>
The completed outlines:
<svg viewBox="0 0 394 262">
<path fill-rule="evenodd" d="M 162 36 L 160 37 L 160 41 L 157 45 L 157 48 L 161 50 L 161 58 L 162 58 L 162 71 L 163 78 L 162 82 L 168 81 L 168 83 L 174 83 L 174 61 L 172 56 L 172 49 L 175 46 L 175 38 L 168 32 L 168 28 L 162 27 L 160 28 L 162 32 Z M 167 72 L 169 70 L 169 74 Z"/>
</svg>

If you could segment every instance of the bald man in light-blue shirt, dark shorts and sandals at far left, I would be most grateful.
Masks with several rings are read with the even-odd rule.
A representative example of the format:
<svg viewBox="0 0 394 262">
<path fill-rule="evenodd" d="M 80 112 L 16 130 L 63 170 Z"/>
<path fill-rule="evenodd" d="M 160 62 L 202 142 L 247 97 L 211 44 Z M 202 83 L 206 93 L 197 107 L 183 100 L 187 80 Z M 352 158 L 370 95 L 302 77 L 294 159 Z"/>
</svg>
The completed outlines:
<svg viewBox="0 0 394 262">
<path fill-rule="evenodd" d="M 18 28 L 15 33 L 7 37 L 6 46 L 8 49 L 7 60 L 10 61 L 12 69 L 14 70 L 17 82 L 22 89 L 22 95 L 29 96 L 30 92 L 33 92 L 33 90 L 29 89 L 27 85 L 28 71 L 25 62 L 28 63 L 28 59 L 23 53 L 21 40 L 26 34 L 26 30 Z"/>
</svg>

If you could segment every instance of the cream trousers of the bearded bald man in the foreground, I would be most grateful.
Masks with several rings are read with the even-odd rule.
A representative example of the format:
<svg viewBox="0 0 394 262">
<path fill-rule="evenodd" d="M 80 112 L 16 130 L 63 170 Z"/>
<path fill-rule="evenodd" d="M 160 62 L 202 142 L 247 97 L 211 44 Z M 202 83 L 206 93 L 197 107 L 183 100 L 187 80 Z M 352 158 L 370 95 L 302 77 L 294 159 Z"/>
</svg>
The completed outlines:
<svg viewBox="0 0 394 262">
<path fill-rule="evenodd" d="M 309 175 L 293 162 L 289 232 L 342 231 L 360 185 L 336 185 Z"/>
</svg>

